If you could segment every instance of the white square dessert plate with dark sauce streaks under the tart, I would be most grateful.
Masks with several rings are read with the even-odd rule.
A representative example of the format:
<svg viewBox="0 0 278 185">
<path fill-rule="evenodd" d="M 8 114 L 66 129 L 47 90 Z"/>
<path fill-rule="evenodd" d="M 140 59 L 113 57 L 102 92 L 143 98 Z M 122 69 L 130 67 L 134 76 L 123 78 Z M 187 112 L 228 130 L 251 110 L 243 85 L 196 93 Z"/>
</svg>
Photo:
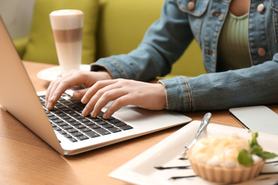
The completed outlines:
<svg viewBox="0 0 278 185">
<path fill-rule="evenodd" d="M 194 171 L 190 169 L 155 169 L 155 166 L 190 166 L 188 160 L 180 160 L 179 155 L 185 149 L 185 146 L 190 144 L 195 137 L 200 121 L 193 121 L 185 125 L 177 132 L 171 134 L 163 141 L 155 144 L 155 146 L 146 150 L 142 154 L 138 155 L 134 159 L 130 160 L 118 169 L 115 169 L 109 176 L 127 181 L 132 184 L 214 184 L 210 181 L 205 181 L 196 176 Z M 201 137 L 219 137 L 223 134 L 237 133 L 240 137 L 251 139 L 251 134 L 247 129 L 241 129 L 237 127 L 228 127 L 225 125 L 217 125 L 210 123 L 207 125 L 207 129 L 200 135 Z M 278 136 L 273 134 L 265 134 L 259 132 L 257 138 L 259 144 L 263 149 L 269 152 L 275 152 L 278 154 Z M 267 161 L 262 169 L 263 173 L 257 178 L 251 181 L 246 181 L 243 184 L 277 184 L 278 183 L 278 159 L 272 159 Z M 276 173 L 276 174 L 273 174 Z M 184 176 L 188 176 L 184 178 Z M 171 177 L 183 177 L 175 180 L 170 180 Z"/>
</svg>

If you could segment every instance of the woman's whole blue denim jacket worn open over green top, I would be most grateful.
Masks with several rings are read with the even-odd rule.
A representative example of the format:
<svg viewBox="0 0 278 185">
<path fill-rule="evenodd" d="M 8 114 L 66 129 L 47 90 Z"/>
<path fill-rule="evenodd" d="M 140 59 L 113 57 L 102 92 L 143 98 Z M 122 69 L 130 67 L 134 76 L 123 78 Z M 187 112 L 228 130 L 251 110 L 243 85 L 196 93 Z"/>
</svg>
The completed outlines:
<svg viewBox="0 0 278 185">
<path fill-rule="evenodd" d="M 166 0 L 160 19 L 142 43 L 125 55 L 101 58 L 113 78 L 148 81 L 170 73 L 192 39 L 202 48 L 206 74 L 160 80 L 168 110 L 220 110 L 278 102 L 278 0 L 251 0 L 249 51 L 252 67 L 217 72 L 217 41 L 231 0 Z M 192 61 L 193 63 L 194 61 Z"/>
</svg>

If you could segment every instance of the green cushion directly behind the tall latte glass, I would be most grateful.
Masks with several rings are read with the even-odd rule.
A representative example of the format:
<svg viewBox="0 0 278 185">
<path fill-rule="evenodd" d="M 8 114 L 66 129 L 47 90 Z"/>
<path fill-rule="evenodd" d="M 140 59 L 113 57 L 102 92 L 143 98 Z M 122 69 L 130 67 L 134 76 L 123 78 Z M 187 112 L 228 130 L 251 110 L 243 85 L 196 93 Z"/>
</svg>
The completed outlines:
<svg viewBox="0 0 278 185">
<path fill-rule="evenodd" d="M 84 13 L 82 63 L 96 58 L 97 0 L 36 0 L 29 41 L 23 60 L 58 64 L 49 14 L 58 9 L 79 9 Z"/>
</svg>

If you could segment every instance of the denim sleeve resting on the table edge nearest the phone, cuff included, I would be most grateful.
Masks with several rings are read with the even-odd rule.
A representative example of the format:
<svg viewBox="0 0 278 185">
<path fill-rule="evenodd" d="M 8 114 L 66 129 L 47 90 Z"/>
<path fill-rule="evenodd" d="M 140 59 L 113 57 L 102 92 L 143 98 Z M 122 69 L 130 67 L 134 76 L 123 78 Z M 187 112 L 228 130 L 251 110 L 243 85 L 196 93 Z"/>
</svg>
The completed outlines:
<svg viewBox="0 0 278 185">
<path fill-rule="evenodd" d="M 278 102 L 278 53 L 251 68 L 160 80 L 168 110 L 227 110 Z"/>
</svg>

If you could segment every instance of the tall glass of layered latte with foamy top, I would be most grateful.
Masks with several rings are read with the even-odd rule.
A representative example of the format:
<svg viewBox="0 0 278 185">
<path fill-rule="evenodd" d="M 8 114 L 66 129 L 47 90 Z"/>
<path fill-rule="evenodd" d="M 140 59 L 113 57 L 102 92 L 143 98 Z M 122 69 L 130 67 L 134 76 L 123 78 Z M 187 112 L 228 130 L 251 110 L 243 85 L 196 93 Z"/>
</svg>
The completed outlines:
<svg viewBox="0 0 278 185">
<path fill-rule="evenodd" d="M 49 14 L 61 75 L 80 70 L 82 58 L 83 12 L 64 9 Z"/>
</svg>

